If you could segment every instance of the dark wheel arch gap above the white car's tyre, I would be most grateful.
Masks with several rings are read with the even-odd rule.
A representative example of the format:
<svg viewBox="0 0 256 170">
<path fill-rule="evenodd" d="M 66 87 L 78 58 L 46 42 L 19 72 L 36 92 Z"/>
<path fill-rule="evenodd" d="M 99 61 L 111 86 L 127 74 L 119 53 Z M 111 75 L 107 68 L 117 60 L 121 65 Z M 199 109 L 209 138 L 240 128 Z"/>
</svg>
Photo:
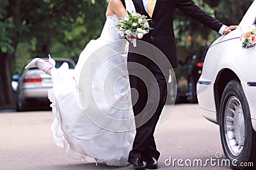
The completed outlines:
<svg viewBox="0 0 256 170">
<path fill-rule="evenodd" d="M 237 74 L 234 73 L 234 71 L 232 71 L 231 69 L 222 69 L 216 76 L 216 80 L 214 83 L 214 100 L 215 100 L 215 106 L 216 106 L 216 119 L 218 124 L 220 123 L 219 117 L 220 117 L 221 96 L 223 94 L 223 91 L 227 83 L 234 79 L 240 82 L 240 79 L 237 76 Z"/>
</svg>

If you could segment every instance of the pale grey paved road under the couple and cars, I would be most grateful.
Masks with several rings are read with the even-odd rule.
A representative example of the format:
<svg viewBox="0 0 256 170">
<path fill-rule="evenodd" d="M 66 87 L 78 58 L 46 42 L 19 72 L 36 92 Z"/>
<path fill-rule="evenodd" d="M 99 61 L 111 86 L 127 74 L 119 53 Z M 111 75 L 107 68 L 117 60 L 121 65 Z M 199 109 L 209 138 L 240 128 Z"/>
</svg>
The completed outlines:
<svg viewBox="0 0 256 170">
<path fill-rule="evenodd" d="M 0 113 L 0 169 L 133 169 L 131 165 L 95 166 L 70 159 L 54 144 L 50 129 L 52 118 L 51 111 Z M 229 169 L 211 166 L 210 162 L 207 167 L 186 166 L 189 160 L 202 159 L 204 163 L 206 159 L 216 159 L 217 152 L 223 153 L 218 126 L 202 117 L 198 104 L 175 105 L 170 117 L 157 125 L 155 136 L 161 152 L 159 169 Z M 184 166 L 179 166 L 177 161 L 174 166 L 170 165 L 170 161 L 166 161 L 170 157 L 172 161 L 182 159 L 180 164 Z"/>
</svg>

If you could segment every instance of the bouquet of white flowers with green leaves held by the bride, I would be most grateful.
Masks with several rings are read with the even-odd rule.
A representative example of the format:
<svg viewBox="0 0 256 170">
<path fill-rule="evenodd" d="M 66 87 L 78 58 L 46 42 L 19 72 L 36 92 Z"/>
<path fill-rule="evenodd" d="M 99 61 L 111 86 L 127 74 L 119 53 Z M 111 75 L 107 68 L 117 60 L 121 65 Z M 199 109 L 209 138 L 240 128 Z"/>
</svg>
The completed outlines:
<svg viewBox="0 0 256 170">
<path fill-rule="evenodd" d="M 147 16 L 140 13 L 127 11 L 127 15 L 121 18 L 116 24 L 116 30 L 121 32 L 121 36 L 127 38 L 127 36 L 134 36 L 136 38 L 143 38 L 144 34 L 147 34 L 149 30 L 153 29 L 149 27 Z M 136 39 L 132 39 L 133 46 L 136 46 Z"/>
</svg>

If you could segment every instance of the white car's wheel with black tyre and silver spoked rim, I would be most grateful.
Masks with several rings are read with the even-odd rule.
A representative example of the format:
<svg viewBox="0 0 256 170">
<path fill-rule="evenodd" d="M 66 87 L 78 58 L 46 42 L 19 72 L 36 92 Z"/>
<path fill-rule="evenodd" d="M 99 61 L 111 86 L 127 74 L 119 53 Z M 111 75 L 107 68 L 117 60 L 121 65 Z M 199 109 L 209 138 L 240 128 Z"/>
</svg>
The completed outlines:
<svg viewBox="0 0 256 170">
<path fill-rule="evenodd" d="M 250 108 L 239 81 L 230 81 L 221 97 L 220 136 L 223 152 L 239 169 L 241 162 L 255 162 L 255 137 L 250 117 Z M 243 164 L 243 163 L 242 163 Z"/>
</svg>

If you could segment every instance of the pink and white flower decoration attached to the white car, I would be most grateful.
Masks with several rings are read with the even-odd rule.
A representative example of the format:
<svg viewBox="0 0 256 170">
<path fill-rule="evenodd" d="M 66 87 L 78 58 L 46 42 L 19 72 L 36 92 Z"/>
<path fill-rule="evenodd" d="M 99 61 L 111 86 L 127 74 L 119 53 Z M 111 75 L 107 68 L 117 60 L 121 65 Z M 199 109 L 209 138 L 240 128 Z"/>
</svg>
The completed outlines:
<svg viewBox="0 0 256 170">
<path fill-rule="evenodd" d="M 243 41 L 243 48 L 251 48 L 256 44 L 256 26 L 249 25 L 248 27 L 241 28 L 243 32 L 241 39 Z"/>
</svg>

